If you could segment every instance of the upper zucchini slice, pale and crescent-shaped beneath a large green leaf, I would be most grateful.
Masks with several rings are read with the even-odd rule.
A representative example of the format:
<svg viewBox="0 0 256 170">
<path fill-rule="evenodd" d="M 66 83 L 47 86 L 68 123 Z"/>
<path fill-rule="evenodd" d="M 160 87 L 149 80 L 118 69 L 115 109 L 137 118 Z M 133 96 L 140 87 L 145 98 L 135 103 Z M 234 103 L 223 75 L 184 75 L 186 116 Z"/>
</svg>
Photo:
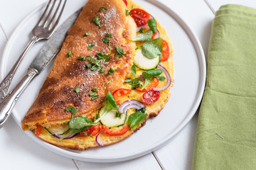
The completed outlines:
<svg viewBox="0 0 256 170">
<path fill-rule="evenodd" d="M 159 64 L 160 62 L 160 56 L 157 56 L 154 59 L 149 59 L 142 54 L 142 49 L 137 49 L 133 61 L 134 64 L 137 65 L 137 67 L 139 67 L 140 69 L 155 69 L 157 64 Z"/>
</svg>

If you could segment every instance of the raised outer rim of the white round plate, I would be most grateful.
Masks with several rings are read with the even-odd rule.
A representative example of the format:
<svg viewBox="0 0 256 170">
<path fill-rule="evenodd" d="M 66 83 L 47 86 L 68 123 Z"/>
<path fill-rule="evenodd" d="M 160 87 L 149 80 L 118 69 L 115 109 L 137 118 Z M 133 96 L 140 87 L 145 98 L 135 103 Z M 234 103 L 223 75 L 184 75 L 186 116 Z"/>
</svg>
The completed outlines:
<svg viewBox="0 0 256 170">
<path fill-rule="evenodd" d="M 142 1 L 142 0 L 140 0 L 140 1 Z M 150 148 L 144 149 L 143 151 L 140 151 L 139 153 L 126 155 L 124 157 L 108 157 L 108 158 L 106 158 L 106 157 L 101 157 L 101 158 L 99 158 L 99 157 L 98 158 L 79 157 L 78 153 L 76 153 L 76 152 L 69 152 L 67 149 L 63 149 L 62 147 L 56 147 L 55 145 L 51 145 L 48 142 L 44 142 L 43 140 L 40 140 L 38 137 L 33 135 L 33 132 L 31 132 L 31 131 L 29 131 L 29 132 L 25 131 L 26 135 L 31 137 L 39 145 L 41 145 L 47 149 L 50 149 L 51 151 L 53 151 L 57 154 L 60 154 L 64 157 L 78 159 L 80 161 L 86 161 L 86 162 L 101 162 L 101 163 L 108 162 L 108 163 L 110 163 L 110 162 L 127 161 L 129 159 L 134 159 L 137 157 L 142 157 L 145 154 L 149 154 L 150 152 L 153 152 L 156 149 L 163 147 L 167 142 L 169 142 L 169 140 L 171 140 L 172 137 L 174 137 L 178 132 L 180 132 L 188 124 L 188 122 L 193 118 L 193 115 L 195 115 L 195 113 L 198 109 L 198 106 L 201 103 L 201 99 L 203 97 L 203 91 L 204 91 L 205 85 L 206 85 L 206 58 L 205 58 L 205 55 L 203 52 L 203 47 L 201 45 L 201 42 L 198 40 L 196 34 L 193 32 L 192 28 L 190 26 L 188 26 L 188 24 L 181 18 L 181 16 L 178 16 L 178 14 L 176 14 L 169 6 L 164 5 L 160 1 L 154 1 L 154 0 L 144 0 L 144 1 L 149 2 L 150 4 L 153 4 L 154 6 L 160 8 L 162 11 L 168 13 L 169 16 L 171 18 L 173 18 L 174 21 L 176 21 L 178 23 L 178 25 L 181 26 L 181 28 L 184 30 L 184 32 L 186 33 L 188 38 L 191 40 L 191 43 L 193 44 L 193 48 L 196 52 L 196 57 L 198 58 L 198 65 L 199 65 L 199 69 L 200 69 L 199 80 L 201 82 L 199 83 L 200 86 L 198 86 L 196 100 L 193 101 L 193 106 L 191 106 L 191 110 L 186 115 L 186 118 L 184 118 L 183 121 L 169 135 L 167 135 L 164 138 L 164 140 L 162 140 L 161 142 L 159 142 L 155 145 L 151 145 Z M 9 52 L 10 52 L 9 47 L 11 47 L 10 45 L 13 43 L 12 40 L 16 37 L 18 30 L 23 26 L 24 23 L 26 23 L 29 20 L 29 18 L 34 13 L 38 12 L 41 8 L 43 8 L 43 6 L 45 6 L 45 4 L 46 4 L 46 2 L 39 5 L 38 7 L 36 7 L 33 11 L 31 11 L 31 13 L 28 14 L 28 16 L 23 18 L 21 23 L 18 24 L 18 26 L 16 27 L 14 32 L 11 34 L 11 37 L 9 38 L 8 42 L 6 43 L 6 46 L 4 47 L 4 52 L 3 52 L 2 56 L 6 55 L 6 53 L 9 54 Z M 1 64 L 6 62 L 6 57 L 1 57 L 0 62 L 1 62 Z M 4 74 L 7 72 L 6 67 L 2 67 L 1 71 L 3 71 L 3 72 L 1 72 L 0 77 L 3 79 Z M 20 122 L 15 118 L 14 115 L 12 115 L 12 117 L 14 118 L 14 120 L 16 121 L 18 126 L 21 128 Z"/>
</svg>

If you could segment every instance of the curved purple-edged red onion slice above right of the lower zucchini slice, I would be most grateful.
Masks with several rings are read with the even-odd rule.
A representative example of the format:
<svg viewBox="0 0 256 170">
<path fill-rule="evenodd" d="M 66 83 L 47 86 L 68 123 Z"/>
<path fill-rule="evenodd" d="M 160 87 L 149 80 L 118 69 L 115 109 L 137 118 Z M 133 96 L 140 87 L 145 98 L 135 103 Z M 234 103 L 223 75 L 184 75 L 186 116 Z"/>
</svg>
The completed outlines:
<svg viewBox="0 0 256 170">
<path fill-rule="evenodd" d="M 144 108 L 145 105 L 141 101 L 137 100 L 128 100 L 124 101 L 118 108 L 119 113 L 126 113 L 129 108 L 136 108 L 136 109 L 141 109 Z"/>
</svg>

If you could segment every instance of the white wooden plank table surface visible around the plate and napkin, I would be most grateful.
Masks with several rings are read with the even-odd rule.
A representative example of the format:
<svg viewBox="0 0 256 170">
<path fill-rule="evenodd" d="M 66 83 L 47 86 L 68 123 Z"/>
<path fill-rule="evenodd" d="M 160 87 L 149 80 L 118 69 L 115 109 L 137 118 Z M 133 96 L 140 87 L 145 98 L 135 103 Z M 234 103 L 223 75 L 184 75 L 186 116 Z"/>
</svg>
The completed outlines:
<svg viewBox="0 0 256 170">
<path fill-rule="evenodd" d="M 0 57 L 18 23 L 45 1 L 0 1 Z M 211 22 L 214 16 L 206 2 L 203 0 L 159 1 L 169 6 L 183 18 L 188 26 L 191 26 L 207 55 Z M 254 0 L 233 0 L 232 2 L 256 8 Z M 214 10 L 217 10 L 220 5 L 228 4 L 230 1 L 209 0 L 209 3 Z M 126 162 L 110 164 L 80 162 L 50 152 L 33 142 L 18 127 L 14 119 L 9 118 L 4 128 L 0 129 L 0 169 L 191 169 L 197 118 L 198 113 L 167 145 L 155 152 Z"/>
</svg>

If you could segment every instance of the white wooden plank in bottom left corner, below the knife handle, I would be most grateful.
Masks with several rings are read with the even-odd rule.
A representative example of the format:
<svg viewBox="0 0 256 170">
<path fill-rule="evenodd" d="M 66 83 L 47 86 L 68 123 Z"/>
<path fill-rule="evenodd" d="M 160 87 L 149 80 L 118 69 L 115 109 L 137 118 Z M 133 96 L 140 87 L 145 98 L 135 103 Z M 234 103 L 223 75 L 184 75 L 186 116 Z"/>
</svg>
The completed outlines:
<svg viewBox="0 0 256 170">
<path fill-rule="evenodd" d="M 31 140 L 13 118 L 0 129 L 0 136 L 0 169 L 77 169 L 72 159 L 50 152 Z"/>
</svg>

